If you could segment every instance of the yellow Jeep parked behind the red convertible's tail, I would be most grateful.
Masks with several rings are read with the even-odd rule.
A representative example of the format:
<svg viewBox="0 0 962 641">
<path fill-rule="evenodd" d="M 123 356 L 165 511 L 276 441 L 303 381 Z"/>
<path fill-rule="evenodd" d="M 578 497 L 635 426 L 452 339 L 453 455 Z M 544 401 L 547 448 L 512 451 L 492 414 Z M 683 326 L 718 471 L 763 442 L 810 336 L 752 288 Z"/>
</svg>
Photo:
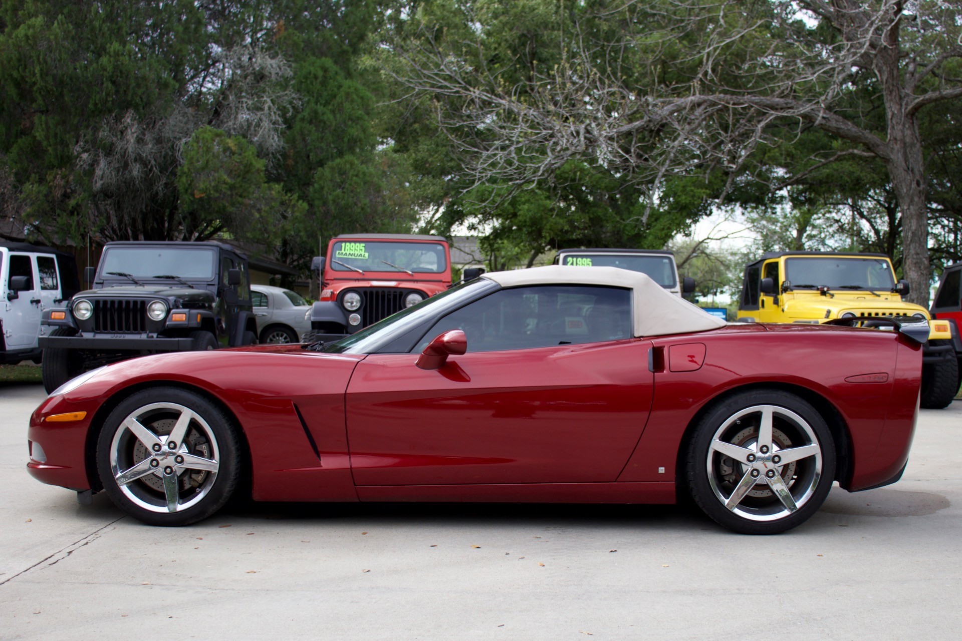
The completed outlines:
<svg viewBox="0 0 962 641">
<path fill-rule="evenodd" d="M 933 321 L 928 309 L 902 301 L 908 283 L 896 281 L 884 254 L 772 252 L 745 268 L 738 320 L 749 323 L 823 323 L 852 319 L 861 325 L 894 320 L 928 323 L 922 371 L 922 407 L 947 407 L 959 389 L 954 325 Z M 872 321 L 881 322 L 872 322 Z"/>
</svg>

